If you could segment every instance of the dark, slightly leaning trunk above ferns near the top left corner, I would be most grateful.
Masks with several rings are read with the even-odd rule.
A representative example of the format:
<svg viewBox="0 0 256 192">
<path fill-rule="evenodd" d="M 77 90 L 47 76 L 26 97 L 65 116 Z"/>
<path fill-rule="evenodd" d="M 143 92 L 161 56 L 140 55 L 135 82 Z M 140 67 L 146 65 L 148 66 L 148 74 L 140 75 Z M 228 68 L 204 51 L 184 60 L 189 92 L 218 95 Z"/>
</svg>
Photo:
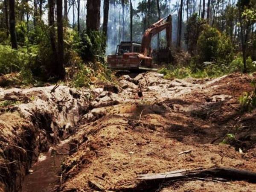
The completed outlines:
<svg viewBox="0 0 256 192">
<path fill-rule="evenodd" d="M 9 14 L 12 49 L 18 49 L 15 31 L 15 0 L 9 0 Z"/>
</svg>

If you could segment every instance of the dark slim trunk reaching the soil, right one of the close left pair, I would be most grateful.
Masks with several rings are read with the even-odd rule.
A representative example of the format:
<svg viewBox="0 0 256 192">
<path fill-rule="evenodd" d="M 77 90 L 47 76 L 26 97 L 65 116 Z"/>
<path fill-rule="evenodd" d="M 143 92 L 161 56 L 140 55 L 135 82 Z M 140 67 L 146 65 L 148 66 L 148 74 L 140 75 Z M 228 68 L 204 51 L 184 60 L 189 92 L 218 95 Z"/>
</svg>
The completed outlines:
<svg viewBox="0 0 256 192">
<path fill-rule="evenodd" d="M 57 76 L 60 79 L 65 77 L 64 69 L 64 39 L 63 39 L 63 17 L 62 17 L 62 0 L 57 1 L 57 30 L 58 30 L 58 67 Z"/>
</svg>

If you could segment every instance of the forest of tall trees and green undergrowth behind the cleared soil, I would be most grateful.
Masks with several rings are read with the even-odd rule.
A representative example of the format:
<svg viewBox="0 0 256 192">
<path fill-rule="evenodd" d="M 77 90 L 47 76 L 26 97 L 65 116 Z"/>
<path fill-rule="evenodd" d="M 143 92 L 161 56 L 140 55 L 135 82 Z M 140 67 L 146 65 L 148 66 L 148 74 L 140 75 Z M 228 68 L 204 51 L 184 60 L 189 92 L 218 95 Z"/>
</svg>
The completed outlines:
<svg viewBox="0 0 256 192">
<path fill-rule="evenodd" d="M 1 84 L 109 81 L 106 55 L 121 41 L 141 42 L 169 14 L 173 60 L 160 69 L 167 78 L 256 70 L 254 0 L 1 0 Z M 165 46 L 165 32 L 152 39 L 152 48 Z"/>
</svg>

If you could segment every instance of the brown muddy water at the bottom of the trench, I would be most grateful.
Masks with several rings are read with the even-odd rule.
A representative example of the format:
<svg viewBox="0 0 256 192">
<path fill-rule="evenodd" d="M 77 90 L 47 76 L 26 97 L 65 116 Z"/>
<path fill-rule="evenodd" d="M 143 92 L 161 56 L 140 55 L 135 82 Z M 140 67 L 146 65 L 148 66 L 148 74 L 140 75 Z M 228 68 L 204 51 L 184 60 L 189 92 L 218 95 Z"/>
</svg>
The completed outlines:
<svg viewBox="0 0 256 192">
<path fill-rule="evenodd" d="M 51 192 L 60 183 L 61 163 L 68 154 L 67 141 L 42 153 L 23 180 L 21 192 Z"/>
</svg>

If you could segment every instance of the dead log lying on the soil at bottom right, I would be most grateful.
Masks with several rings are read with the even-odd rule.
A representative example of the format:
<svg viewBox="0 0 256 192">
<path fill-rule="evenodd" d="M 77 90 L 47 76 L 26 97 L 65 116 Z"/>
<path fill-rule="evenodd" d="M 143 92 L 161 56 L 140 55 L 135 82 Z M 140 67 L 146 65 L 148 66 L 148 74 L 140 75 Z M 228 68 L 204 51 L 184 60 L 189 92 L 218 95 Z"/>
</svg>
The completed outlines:
<svg viewBox="0 0 256 192">
<path fill-rule="evenodd" d="M 195 177 L 219 177 L 227 180 L 246 180 L 256 183 L 256 172 L 234 169 L 230 167 L 212 167 L 209 169 L 180 169 L 172 172 L 158 174 L 144 174 L 137 177 L 138 180 L 178 180 L 183 178 Z"/>
</svg>

